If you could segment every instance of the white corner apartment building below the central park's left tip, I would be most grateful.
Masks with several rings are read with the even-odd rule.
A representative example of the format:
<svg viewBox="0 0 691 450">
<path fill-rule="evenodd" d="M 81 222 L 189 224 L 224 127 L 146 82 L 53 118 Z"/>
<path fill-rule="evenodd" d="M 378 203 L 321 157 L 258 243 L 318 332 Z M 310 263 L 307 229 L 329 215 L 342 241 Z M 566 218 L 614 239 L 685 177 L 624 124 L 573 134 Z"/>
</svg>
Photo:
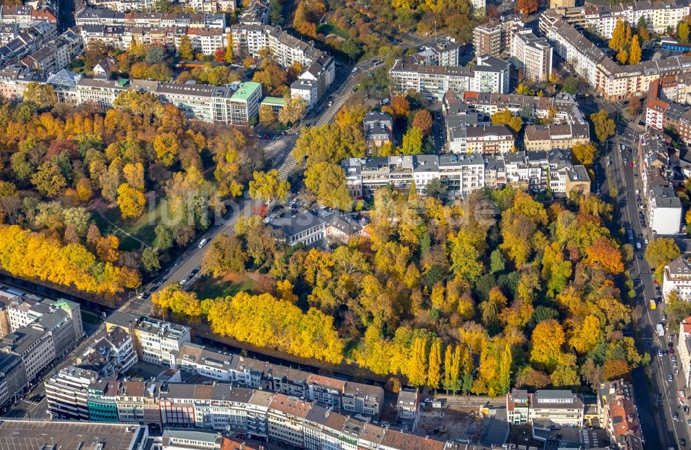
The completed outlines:
<svg viewBox="0 0 691 450">
<path fill-rule="evenodd" d="M 190 342 L 189 327 L 145 318 L 134 327 L 134 339 L 141 347 L 142 361 L 173 365 L 182 343 Z"/>
</svg>

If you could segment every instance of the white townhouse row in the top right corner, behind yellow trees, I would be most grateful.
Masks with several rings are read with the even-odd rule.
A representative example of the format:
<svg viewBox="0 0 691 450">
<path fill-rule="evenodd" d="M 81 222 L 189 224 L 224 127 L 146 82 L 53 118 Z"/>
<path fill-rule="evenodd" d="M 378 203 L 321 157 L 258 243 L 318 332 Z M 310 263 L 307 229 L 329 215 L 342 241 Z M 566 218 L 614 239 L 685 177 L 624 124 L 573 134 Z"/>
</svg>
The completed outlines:
<svg viewBox="0 0 691 450">
<path fill-rule="evenodd" d="M 617 21 L 628 22 L 629 26 L 636 28 L 642 18 L 647 29 L 652 32 L 663 34 L 668 28 L 676 30 L 679 22 L 691 14 L 691 7 L 688 2 L 681 0 L 641 0 L 616 5 L 588 2 L 585 6 L 560 8 L 558 12 L 569 23 L 587 28 L 605 39 L 611 39 Z"/>
</svg>

